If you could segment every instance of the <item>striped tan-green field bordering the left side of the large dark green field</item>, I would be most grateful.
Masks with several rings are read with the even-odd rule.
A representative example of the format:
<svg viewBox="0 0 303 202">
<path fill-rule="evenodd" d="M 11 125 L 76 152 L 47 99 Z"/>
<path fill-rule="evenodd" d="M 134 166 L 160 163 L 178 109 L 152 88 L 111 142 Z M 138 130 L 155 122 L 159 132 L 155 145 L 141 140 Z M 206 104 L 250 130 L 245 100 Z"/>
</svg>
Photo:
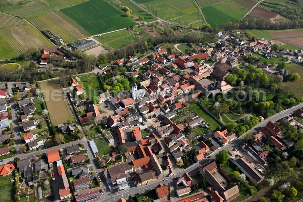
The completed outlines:
<svg viewBox="0 0 303 202">
<path fill-rule="evenodd" d="M 48 29 L 52 34 L 60 36 L 65 42 L 73 42 L 90 34 L 77 23 L 61 12 L 51 12 L 29 19 L 41 31 Z"/>
</svg>

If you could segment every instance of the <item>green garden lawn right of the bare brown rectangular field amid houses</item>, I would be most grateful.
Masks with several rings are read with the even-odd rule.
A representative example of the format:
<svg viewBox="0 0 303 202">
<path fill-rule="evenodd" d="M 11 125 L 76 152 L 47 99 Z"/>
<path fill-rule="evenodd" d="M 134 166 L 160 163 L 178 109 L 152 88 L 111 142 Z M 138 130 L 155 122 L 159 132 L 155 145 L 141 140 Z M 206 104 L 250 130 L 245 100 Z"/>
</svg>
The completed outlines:
<svg viewBox="0 0 303 202">
<path fill-rule="evenodd" d="M 100 92 L 96 92 L 102 90 L 102 85 L 95 74 L 81 76 L 79 83 L 84 87 L 87 96 L 98 96 L 101 94 Z"/>
</svg>

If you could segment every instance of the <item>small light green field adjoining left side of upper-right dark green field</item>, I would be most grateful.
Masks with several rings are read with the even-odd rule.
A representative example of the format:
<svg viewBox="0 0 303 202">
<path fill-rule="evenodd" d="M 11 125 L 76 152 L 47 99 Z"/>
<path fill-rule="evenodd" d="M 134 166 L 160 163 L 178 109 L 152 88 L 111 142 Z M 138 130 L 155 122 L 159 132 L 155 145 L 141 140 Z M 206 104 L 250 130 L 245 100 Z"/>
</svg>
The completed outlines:
<svg viewBox="0 0 303 202">
<path fill-rule="evenodd" d="M 183 15 L 179 18 L 171 20 L 171 22 L 176 22 L 185 26 L 191 26 L 193 28 L 205 24 L 199 11 Z"/>
</svg>

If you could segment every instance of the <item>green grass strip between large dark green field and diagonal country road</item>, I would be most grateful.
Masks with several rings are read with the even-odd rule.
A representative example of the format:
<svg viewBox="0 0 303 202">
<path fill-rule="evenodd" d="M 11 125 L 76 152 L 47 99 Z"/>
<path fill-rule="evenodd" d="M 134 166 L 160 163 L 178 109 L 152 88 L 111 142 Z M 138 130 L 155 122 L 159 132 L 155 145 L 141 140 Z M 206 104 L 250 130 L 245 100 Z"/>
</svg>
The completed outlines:
<svg viewBox="0 0 303 202">
<path fill-rule="evenodd" d="M 115 5 L 115 7 L 118 9 L 121 9 L 121 7 L 119 5 L 127 6 L 129 9 L 131 9 L 133 11 L 132 12 L 133 16 L 136 16 L 137 18 L 139 16 L 143 16 L 144 17 L 143 20 L 146 22 L 151 22 L 151 21 L 156 20 L 152 15 L 143 11 L 141 8 L 139 8 L 138 6 L 136 6 L 135 4 L 133 4 L 132 2 L 130 2 L 128 0 L 110 0 L 110 2 L 112 2 L 113 5 Z"/>
</svg>

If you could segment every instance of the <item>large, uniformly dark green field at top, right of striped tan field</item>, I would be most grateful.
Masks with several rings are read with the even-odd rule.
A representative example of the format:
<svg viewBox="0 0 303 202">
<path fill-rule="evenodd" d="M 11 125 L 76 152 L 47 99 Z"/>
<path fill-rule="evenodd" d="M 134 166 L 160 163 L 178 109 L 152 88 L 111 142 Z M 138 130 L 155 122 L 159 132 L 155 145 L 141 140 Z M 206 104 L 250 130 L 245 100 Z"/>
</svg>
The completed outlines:
<svg viewBox="0 0 303 202">
<path fill-rule="evenodd" d="M 137 25 L 125 12 L 119 11 L 105 0 L 90 0 L 60 11 L 91 34 Z"/>
</svg>

